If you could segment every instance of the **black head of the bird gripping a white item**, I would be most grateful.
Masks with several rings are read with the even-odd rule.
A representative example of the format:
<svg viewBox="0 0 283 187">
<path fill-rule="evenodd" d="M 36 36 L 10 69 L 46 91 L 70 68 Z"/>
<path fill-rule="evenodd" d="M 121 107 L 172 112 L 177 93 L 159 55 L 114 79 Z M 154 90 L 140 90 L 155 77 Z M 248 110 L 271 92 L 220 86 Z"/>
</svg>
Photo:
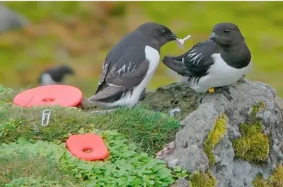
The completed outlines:
<svg viewBox="0 0 283 187">
<path fill-rule="evenodd" d="M 159 23 L 144 23 L 137 30 L 155 38 L 160 46 L 177 39 L 177 36 L 168 27 Z"/>
</svg>

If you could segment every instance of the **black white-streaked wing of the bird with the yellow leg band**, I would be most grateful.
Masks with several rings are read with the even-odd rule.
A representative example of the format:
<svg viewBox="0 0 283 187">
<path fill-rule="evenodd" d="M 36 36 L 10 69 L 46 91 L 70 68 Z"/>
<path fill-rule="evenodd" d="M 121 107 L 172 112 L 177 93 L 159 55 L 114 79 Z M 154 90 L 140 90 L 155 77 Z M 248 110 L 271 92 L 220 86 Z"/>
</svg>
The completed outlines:
<svg viewBox="0 0 283 187">
<path fill-rule="evenodd" d="M 166 56 L 163 64 L 185 77 L 203 77 L 214 64 L 211 55 L 220 52 L 219 45 L 211 40 L 194 45 L 185 54 L 178 57 Z"/>
</svg>

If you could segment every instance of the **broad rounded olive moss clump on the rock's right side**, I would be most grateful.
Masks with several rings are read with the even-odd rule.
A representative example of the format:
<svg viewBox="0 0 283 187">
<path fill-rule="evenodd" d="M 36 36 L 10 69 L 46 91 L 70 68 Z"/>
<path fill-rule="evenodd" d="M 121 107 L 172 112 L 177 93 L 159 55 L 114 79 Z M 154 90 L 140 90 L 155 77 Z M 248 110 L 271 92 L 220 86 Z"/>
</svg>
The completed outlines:
<svg viewBox="0 0 283 187">
<path fill-rule="evenodd" d="M 260 121 L 248 125 L 240 125 L 242 137 L 232 141 L 235 157 L 248 162 L 263 162 L 270 152 L 269 137 L 262 133 Z"/>
</svg>

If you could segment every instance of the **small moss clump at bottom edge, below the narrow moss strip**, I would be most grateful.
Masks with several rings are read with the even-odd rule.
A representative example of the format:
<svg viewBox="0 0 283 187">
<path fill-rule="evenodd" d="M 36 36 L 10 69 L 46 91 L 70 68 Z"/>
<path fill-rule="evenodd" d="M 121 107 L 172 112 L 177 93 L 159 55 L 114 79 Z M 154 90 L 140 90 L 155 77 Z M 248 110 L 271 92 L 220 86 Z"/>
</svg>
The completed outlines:
<svg viewBox="0 0 283 187">
<path fill-rule="evenodd" d="M 207 171 L 207 173 L 195 171 L 190 175 L 191 187 L 215 187 L 216 185 L 216 179 L 211 171 Z"/>
</svg>

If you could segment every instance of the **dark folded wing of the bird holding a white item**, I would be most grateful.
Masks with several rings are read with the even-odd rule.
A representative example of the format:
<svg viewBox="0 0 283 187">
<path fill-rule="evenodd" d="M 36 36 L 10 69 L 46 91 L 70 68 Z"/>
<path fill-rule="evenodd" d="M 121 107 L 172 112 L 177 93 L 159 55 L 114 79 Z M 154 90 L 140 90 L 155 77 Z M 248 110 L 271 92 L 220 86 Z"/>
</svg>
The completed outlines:
<svg viewBox="0 0 283 187">
<path fill-rule="evenodd" d="M 145 45 L 129 44 L 131 43 L 122 41 L 110 51 L 103 63 L 96 94 L 90 100 L 98 101 L 115 96 L 138 86 L 144 79 L 149 69 Z"/>
</svg>

